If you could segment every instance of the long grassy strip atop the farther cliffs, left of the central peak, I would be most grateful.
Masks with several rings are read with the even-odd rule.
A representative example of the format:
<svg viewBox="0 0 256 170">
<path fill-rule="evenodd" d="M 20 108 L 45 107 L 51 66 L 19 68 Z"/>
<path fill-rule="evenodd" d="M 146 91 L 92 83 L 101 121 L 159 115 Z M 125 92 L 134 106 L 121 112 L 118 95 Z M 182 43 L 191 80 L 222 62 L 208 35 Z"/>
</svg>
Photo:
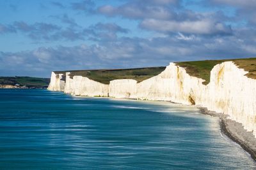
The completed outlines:
<svg viewBox="0 0 256 170">
<path fill-rule="evenodd" d="M 109 81 L 116 79 L 134 79 L 138 82 L 156 76 L 164 71 L 165 67 L 147 67 L 136 69 L 98 69 L 98 70 L 77 70 L 69 71 L 70 77 L 84 76 L 100 83 L 109 84 Z M 54 71 L 54 73 L 65 74 L 68 71 Z"/>
</svg>

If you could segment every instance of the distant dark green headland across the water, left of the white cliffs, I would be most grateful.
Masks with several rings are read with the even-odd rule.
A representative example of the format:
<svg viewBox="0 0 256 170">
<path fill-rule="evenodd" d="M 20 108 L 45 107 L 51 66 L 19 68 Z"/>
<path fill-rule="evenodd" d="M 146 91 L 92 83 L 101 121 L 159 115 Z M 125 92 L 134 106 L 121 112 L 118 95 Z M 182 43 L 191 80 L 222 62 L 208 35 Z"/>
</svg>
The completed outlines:
<svg viewBox="0 0 256 170">
<path fill-rule="evenodd" d="M 45 88 L 49 85 L 49 78 L 35 78 L 28 76 L 0 77 L 0 85 L 26 85 L 26 87 Z"/>
</svg>

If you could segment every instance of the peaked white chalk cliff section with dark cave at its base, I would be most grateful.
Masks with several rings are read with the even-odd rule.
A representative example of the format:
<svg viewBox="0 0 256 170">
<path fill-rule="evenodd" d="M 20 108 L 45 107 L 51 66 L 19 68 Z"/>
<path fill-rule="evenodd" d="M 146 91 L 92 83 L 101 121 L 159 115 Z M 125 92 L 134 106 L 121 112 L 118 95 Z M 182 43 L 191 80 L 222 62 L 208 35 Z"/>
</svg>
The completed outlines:
<svg viewBox="0 0 256 170">
<path fill-rule="evenodd" d="M 170 63 L 166 69 L 137 85 L 138 99 L 172 101 L 182 104 L 195 104 L 195 94 L 205 90 L 204 80 L 189 76 L 186 69 Z M 198 93 L 197 93 L 198 94 Z"/>
</svg>

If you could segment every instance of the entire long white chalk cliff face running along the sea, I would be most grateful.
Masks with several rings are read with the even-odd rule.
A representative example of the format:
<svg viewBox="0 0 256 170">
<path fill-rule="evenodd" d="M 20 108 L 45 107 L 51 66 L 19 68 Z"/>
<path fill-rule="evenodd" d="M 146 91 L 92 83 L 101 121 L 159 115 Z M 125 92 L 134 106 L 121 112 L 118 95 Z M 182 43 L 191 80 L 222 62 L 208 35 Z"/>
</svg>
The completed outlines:
<svg viewBox="0 0 256 170">
<path fill-rule="evenodd" d="M 243 124 L 256 138 L 256 80 L 245 76 L 233 62 L 213 67 L 211 81 L 203 85 L 201 78 L 189 76 L 186 69 L 170 63 L 166 69 L 147 80 L 113 80 L 109 85 L 83 76 L 61 80 L 63 74 L 52 72 L 49 90 L 63 91 L 76 96 L 106 96 L 141 100 L 172 101 L 196 104 L 208 110 L 228 115 Z"/>
</svg>

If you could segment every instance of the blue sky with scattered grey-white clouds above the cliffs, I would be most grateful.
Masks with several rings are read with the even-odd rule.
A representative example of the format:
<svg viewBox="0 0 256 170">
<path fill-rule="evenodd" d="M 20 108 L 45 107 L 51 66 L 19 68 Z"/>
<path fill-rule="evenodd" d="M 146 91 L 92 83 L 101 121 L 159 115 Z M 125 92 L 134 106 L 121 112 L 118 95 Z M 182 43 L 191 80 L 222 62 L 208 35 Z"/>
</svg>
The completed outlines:
<svg viewBox="0 0 256 170">
<path fill-rule="evenodd" d="M 0 0 L 0 76 L 256 57 L 256 0 Z"/>
</svg>

